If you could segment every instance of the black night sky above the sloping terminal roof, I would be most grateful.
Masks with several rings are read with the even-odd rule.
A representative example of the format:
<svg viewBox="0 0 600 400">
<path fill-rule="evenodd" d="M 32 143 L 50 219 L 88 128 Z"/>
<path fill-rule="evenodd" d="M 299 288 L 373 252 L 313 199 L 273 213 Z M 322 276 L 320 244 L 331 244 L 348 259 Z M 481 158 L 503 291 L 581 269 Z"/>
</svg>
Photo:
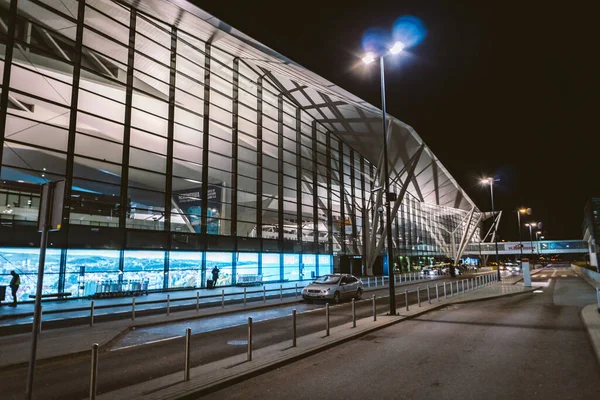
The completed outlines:
<svg viewBox="0 0 600 400">
<path fill-rule="evenodd" d="M 480 177 L 500 179 L 501 238 L 517 239 L 521 206 L 546 238 L 582 237 L 586 199 L 600 195 L 592 1 L 195 3 L 378 107 L 378 74 L 352 69 L 361 37 L 402 15 L 420 18 L 427 37 L 386 72 L 388 113 L 415 128 L 481 210 L 491 206 Z"/>
</svg>

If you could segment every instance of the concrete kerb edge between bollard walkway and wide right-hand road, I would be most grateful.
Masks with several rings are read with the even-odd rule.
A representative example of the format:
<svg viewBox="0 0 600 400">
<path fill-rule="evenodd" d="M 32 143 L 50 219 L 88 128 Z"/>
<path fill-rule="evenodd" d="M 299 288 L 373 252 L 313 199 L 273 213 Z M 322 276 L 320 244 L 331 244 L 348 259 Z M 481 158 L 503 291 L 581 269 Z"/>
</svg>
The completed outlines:
<svg viewBox="0 0 600 400">
<path fill-rule="evenodd" d="M 197 390 L 193 390 L 191 393 L 179 396 L 177 398 L 178 399 L 197 399 L 198 396 L 203 396 L 203 395 L 206 395 L 206 394 L 218 391 L 218 390 L 223 389 L 223 388 L 225 388 L 227 386 L 230 386 L 232 384 L 236 384 L 236 383 L 248 380 L 250 378 L 253 378 L 253 377 L 258 376 L 258 375 L 262 375 L 264 373 L 267 373 L 269 371 L 272 371 L 272 370 L 274 370 L 276 368 L 279 368 L 279 367 L 282 367 L 284 365 L 288 365 L 288 364 L 291 364 L 291 363 L 293 363 L 295 361 L 304 359 L 306 357 L 310 357 L 310 356 L 312 356 L 312 355 L 314 355 L 316 353 L 319 353 L 319 352 L 321 352 L 323 350 L 328 350 L 330 348 L 333 348 L 333 347 L 338 346 L 340 344 L 349 342 L 351 340 L 356 340 L 356 339 L 358 339 L 360 337 L 363 337 L 363 336 L 366 336 L 366 335 L 368 335 L 368 334 L 370 334 L 372 332 L 376 332 L 378 330 L 388 328 L 388 327 L 390 327 L 392 325 L 399 324 L 399 323 L 401 323 L 403 321 L 413 319 L 415 317 L 421 316 L 421 315 L 426 314 L 428 312 L 435 311 L 435 310 L 447 307 L 448 305 L 451 305 L 451 304 L 474 303 L 474 302 L 477 302 L 477 301 L 492 300 L 492 299 L 497 299 L 497 298 L 501 298 L 501 297 L 512 297 L 512 296 L 516 296 L 516 295 L 519 295 L 519 294 L 530 293 L 530 292 L 533 292 L 534 290 L 536 290 L 536 288 L 525 289 L 522 292 L 516 292 L 516 293 L 499 294 L 499 295 L 490 296 L 490 297 L 486 297 L 486 298 L 480 298 L 480 299 L 467 299 L 467 300 L 458 300 L 458 299 L 454 300 L 454 299 L 450 299 L 450 301 L 448 301 L 448 302 L 445 302 L 445 303 L 442 303 L 442 304 L 432 305 L 431 307 L 428 307 L 428 308 L 426 308 L 426 309 L 424 309 L 422 311 L 418 311 L 418 312 L 416 312 L 416 313 L 414 313 L 412 315 L 402 315 L 402 314 L 399 314 L 399 315 L 396 315 L 395 316 L 396 318 L 394 318 L 391 321 L 382 323 L 380 325 L 377 325 L 377 326 L 374 326 L 374 327 L 371 327 L 371 328 L 367 328 L 367 329 L 365 329 L 365 330 L 363 330 L 361 332 L 357 332 L 355 334 L 351 334 L 351 335 L 348 335 L 346 337 L 342 337 L 342 338 L 333 340 L 331 342 L 324 343 L 322 345 L 318 345 L 316 347 L 313 347 L 313 348 L 307 350 L 306 352 L 303 352 L 303 353 L 300 353 L 300 354 L 296 354 L 296 355 L 290 356 L 288 358 L 284 358 L 284 359 L 280 359 L 280 360 L 277 360 L 277 361 L 273 361 L 273 362 L 271 362 L 269 364 L 257 367 L 255 369 L 252 369 L 252 370 L 248 371 L 248 372 L 245 372 L 245 371 L 244 372 L 239 372 L 237 374 L 234 374 L 234 375 L 231 375 L 231 376 L 228 376 L 228 377 L 225 377 L 225 378 L 221 378 L 221 379 L 215 381 L 214 383 L 209 383 L 209 384 L 207 384 L 206 386 L 204 386 L 202 388 L 199 388 Z M 388 316 L 385 313 L 384 314 L 379 314 L 379 315 L 381 315 L 381 316 Z M 183 382 L 181 382 L 181 383 L 183 383 Z M 110 394 L 110 392 L 105 393 L 104 395 L 109 395 L 109 394 Z"/>
</svg>

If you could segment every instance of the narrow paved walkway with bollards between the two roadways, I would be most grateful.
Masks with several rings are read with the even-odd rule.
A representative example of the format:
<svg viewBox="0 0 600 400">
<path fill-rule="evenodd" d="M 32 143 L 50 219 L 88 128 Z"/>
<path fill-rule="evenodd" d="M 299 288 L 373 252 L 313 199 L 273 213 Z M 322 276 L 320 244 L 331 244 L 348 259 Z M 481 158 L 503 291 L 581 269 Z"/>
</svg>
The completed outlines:
<svg viewBox="0 0 600 400">
<path fill-rule="evenodd" d="M 307 357 L 319 351 L 336 346 L 369 332 L 379 330 L 399 323 L 409 318 L 421 315 L 428 311 L 446 307 L 450 304 L 485 300 L 503 296 L 518 295 L 532 292 L 533 288 L 520 285 L 491 284 L 481 289 L 476 289 L 447 299 L 440 298 L 439 302 L 432 304 L 421 302 L 421 307 L 416 304 L 400 310 L 399 316 L 377 315 L 377 321 L 365 318 L 357 321 L 357 327 L 344 324 L 331 329 L 329 336 L 325 332 L 302 336 L 298 338 L 298 346 L 291 347 L 291 340 L 253 352 L 252 361 L 247 361 L 246 354 L 230 357 L 214 363 L 205 364 L 190 370 L 190 380 L 183 381 L 183 371 L 133 385 L 124 389 L 103 394 L 102 399 L 177 399 L 185 396 L 194 397 L 216 390 L 225 385 L 245 379 L 247 376 L 256 375 L 270 369 L 277 368 L 300 358 Z"/>
</svg>

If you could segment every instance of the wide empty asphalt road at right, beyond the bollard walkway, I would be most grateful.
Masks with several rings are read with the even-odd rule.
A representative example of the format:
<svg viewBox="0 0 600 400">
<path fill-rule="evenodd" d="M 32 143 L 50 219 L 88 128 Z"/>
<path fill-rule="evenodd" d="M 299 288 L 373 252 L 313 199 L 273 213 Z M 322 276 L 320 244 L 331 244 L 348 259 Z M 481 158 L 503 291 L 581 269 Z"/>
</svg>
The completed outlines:
<svg viewBox="0 0 600 400">
<path fill-rule="evenodd" d="M 533 281 L 542 293 L 449 306 L 206 398 L 600 398 L 579 316 L 594 290 L 566 268 Z"/>
</svg>

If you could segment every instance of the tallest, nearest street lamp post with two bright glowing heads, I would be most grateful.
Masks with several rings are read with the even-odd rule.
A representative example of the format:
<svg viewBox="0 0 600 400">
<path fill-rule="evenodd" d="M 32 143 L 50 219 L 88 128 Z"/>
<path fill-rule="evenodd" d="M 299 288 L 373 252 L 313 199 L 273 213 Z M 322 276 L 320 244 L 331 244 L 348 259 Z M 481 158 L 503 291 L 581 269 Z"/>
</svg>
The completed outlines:
<svg viewBox="0 0 600 400">
<path fill-rule="evenodd" d="M 404 45 L 401 42 L 394 43 L 394 46 L 389 49 L 390 54 L 398 54 L 404 49 Z M 394 268 L 392 267 L 392 260 L 394 254 L 394 240 L 392 238 L 392 215 L 390 205 L 390 176 L 389 176 L 389 165 L 388 165 L 388 154 L 387 154 L 387 121 L 386 121 L 386 104 L 385 104 L 385 54 L 379 55 L 379 69 L 381 78 L 381 120 L 383 130 L 383 179 L 385 188 L 385 218 L 386 218 L 386 236 L 387 236 L 387 264 L 388 264 L 388 281 L 389 284 L 389 301 L 390 301 L 390 315 L 396 315 L 396 288 L 394 287 Z M 363 61 L 365 64 L 369 64 L 375 61 L 375 57 L 372 54 L 367 54 Z"/>
</svg>

